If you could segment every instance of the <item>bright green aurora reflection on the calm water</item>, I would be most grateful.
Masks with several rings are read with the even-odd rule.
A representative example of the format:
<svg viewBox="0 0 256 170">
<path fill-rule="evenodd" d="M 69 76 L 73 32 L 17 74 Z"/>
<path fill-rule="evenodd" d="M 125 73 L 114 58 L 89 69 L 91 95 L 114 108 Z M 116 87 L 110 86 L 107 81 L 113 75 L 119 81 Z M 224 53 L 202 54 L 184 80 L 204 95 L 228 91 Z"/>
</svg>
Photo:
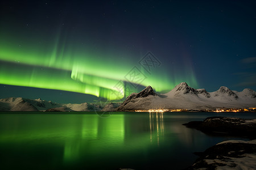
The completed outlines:
<svg viewBox="0 0 256 170">
<path fill-rule="evenodd" d="M 125 139 L 124 114 L 101 118 L 96 115 L 82 115 L 76 117 L 74 129 L 69 129 L 68 139 L 65 140 L 63 162 L 66 165 L 75 164 L 85 153 L 98 154 L 106 148 L 115 148 L 123 145 Z M 102 145 L 101 141 L 105 141 Z"/>
</svg>

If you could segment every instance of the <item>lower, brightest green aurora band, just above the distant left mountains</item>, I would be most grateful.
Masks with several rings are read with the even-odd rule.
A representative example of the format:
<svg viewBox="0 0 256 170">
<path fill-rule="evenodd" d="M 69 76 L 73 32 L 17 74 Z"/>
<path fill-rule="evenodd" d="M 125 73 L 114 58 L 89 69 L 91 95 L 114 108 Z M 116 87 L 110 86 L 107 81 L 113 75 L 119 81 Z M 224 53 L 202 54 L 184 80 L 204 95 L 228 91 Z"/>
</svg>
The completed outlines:
<svg viewBox="0 0 256 170">
<path fill-rule="evenodd" d="M 71 78 L 70 71 L 65 70 L 1 62 L 0 73 L 2 84 L 80 92 L 109 100 L 118 100 L 123 97 L 119 91 L 75 81 Z"/>
</svg>

